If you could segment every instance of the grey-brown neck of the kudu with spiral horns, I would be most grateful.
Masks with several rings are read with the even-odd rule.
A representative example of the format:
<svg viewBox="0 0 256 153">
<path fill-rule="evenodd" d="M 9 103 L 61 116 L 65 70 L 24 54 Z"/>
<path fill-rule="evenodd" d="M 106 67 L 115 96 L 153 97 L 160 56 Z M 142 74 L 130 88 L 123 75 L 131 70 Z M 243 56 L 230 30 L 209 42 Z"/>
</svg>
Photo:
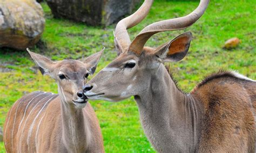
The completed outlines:
<svg viewBox="0 0 256 153">
<path fill-rule="evenodd" d="M 197 149 L 201 106 L 177 88 L 163 64 L 152 75 L 148 90 L 135 99 L 145 133 L 157 151 L 166 150 L 166 143 L 173 151 Z"/>
</svg>

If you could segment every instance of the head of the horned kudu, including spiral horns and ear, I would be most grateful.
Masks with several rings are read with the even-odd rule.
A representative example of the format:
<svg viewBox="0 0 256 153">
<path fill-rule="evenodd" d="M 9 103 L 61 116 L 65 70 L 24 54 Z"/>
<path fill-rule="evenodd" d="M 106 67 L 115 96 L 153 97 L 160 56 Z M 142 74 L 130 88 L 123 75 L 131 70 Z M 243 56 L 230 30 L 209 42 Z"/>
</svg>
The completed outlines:
<svg viewBox="0 0 256 153">
<path fill-rule="evenodd" d="M 149 12 L 153 0 L 145 0 L 131 16 L 120 20 L 114 31 L 118 57 L 102 69 L 84 86 L 89 99 L 119 101 L 142 94 L 151 86 L 151 79 L 158 79 L 163 62 L 183 59 L 190 47 L 191 32 L 186 32 L 158 48 L 144 47 L 147 40 L 158 32 L 181 30 L 191 26 L 204 13 L 209 0 L 201 0 L 198 8 L 185 17 L 158 21 L 146 26 L 131 42 L 127 28 L 137 25 Z"/>
</svg>

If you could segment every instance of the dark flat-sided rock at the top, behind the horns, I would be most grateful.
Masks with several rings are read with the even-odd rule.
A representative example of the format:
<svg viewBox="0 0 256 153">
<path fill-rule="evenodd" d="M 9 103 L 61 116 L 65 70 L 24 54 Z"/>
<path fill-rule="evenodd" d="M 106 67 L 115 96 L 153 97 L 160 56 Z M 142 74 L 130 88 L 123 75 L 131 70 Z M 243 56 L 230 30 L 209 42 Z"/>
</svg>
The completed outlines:
<svg viewBox="0 0 256 153">
<path fill-rule="evenodd" d="M 130 14 L 140 0 L 46 0 L 56 18 L 88 25 L 110 25 Z"/>
</svg>

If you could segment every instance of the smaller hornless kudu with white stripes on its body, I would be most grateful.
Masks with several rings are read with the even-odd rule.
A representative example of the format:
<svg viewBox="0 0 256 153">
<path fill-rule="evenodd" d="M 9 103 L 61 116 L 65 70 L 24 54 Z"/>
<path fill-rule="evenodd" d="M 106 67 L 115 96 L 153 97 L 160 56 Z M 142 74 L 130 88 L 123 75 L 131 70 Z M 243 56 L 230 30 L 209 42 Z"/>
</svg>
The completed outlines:
<svg viewBox="0 0 256 153">
<path fill-rule="evenodd" d="M 43 75 L 58 84 L 58 94 L 36 91 L 11 107 L 4 125 L 7 152 L 104 152 L 95 112 L 83 95 L 87 77 L 103 53 L 84 61 L 50 59 L 28 50 Z"/>
</svg>

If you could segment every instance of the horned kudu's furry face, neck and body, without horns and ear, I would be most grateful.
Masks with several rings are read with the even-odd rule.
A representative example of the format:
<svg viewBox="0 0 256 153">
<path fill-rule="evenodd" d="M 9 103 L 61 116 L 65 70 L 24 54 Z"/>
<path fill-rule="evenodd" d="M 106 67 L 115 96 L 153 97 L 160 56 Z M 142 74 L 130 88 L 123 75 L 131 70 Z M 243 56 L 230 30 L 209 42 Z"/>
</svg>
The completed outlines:
<svg viewBox="0 0 256 153">
<path fill-rule="evenodd" d="M 155 59 L 120 54 L 86 84 L 93 88 L 85 95 L 108 101 L 134 96 L 158 152 L 254 152 L 256 82 L 220 71 L 184 93 Z M 131 60 L 137 66 L 123 69 Z"/>
</svg>

